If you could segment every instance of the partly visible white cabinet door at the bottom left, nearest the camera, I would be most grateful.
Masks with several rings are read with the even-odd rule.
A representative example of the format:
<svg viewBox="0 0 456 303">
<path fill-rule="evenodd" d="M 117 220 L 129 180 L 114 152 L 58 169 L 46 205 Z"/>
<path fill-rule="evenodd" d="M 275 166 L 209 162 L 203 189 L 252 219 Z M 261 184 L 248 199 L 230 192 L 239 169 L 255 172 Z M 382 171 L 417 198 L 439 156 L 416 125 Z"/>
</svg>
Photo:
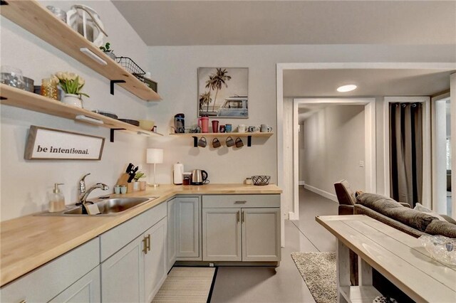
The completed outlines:
<svg viewBox="0 0 456 303">
<path fill-rule="evenodd" d="M 100 266 L 95 267 L 49 302 L 101 302 Z"/>
</svg>

